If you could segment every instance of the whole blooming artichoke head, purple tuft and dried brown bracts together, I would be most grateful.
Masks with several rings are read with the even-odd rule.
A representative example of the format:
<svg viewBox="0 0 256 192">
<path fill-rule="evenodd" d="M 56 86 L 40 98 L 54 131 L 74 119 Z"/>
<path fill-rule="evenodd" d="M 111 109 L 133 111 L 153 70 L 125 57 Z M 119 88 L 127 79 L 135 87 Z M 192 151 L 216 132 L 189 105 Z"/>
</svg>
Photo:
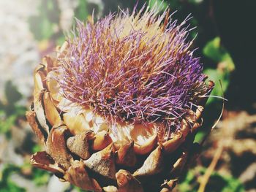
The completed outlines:
<svg viewBox="0 0 256 192">
<path fill-rule="evenodd" d="M 146 5 L 76 20 L 34 71 L 27 118 L 45 151 L 32 164 L 86 190 L 170 191 L 195 155 L 214 88 L 190 48 L 188 20 Z"/>
</svg>

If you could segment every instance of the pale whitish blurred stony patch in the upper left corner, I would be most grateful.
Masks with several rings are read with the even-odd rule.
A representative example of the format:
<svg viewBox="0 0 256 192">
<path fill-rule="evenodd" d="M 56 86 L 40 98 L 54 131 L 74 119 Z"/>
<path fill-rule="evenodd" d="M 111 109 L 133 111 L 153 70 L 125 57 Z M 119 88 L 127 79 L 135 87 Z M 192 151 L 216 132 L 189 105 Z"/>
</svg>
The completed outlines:
<svg viewBox="0 0 256 192">
<path fill-rule="evenodd" d="M 36 13 L 38 1 L 0 0 L 0 85 L 12 80 L 18 91 L 31 96 L 33 69 L 39 63 L 39 53 L 28 18 Z M 3 96 L 0 87 L 0 96 Z"/>
</svg>

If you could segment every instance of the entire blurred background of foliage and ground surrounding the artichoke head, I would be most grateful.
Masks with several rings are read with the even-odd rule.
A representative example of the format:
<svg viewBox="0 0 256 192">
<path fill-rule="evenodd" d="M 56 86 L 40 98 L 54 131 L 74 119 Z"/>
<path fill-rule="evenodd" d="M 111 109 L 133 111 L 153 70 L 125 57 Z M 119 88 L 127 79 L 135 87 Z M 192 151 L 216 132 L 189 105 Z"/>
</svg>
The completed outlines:
<svg viewBox="0 0 256 192">
<path fill-rule="evenodd" d="M 138 1 L 177 10 L 173 18 L 189 20 L 189 39 L 204 72 L 216 82 L 214 96 L 224 93 L 225 109 L 203 151 L 175 191 L 256 191 L 256 4 L 254 0 Z M 74 18 L 87 20 L 94 10 L 102 18 L 133 0 L 0 0 L 0 191 L 80 191 L 29 164 L 39 151 L 26 123 L 31 103 L 32 72 L 44 55 L 64 42 Z M 219 83 L 221 82 L 221 84 Z M 201 142 L 222 112 L 222 99 L 208 99 Z"/>
</svg>

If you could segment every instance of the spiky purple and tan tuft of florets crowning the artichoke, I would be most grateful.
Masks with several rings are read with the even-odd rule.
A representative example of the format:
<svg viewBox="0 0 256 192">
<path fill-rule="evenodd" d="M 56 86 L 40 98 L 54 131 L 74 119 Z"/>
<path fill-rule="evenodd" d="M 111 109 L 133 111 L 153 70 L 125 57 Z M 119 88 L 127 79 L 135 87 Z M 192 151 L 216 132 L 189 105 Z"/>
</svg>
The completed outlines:
<svg viewBox="0 0 256 192">
<path fill-rule="evenodd" d="M 64 96 L 112 120 L 181 118 L 206 93 L 203 66 L 188 50 L 185 21 L 178 25 L 155 10 L 140 19 L 122 12 L 95 24 L 78 21 L 59 58 Z"/>
</svg>

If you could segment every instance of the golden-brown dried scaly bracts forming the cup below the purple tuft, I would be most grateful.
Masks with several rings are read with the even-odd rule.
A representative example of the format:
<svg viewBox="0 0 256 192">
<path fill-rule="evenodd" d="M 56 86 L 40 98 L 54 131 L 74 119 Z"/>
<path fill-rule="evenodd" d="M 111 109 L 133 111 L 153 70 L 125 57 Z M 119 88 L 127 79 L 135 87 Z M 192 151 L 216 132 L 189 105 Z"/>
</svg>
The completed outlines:
<svg viewBox="0 0 256 192">
<path fill-rule="evenodd" d="M 34 72 L 34 104 L 26 117 L 45 151 L 32 155 L 31 164 L 91 191 L 171 191 L 199 152 L 193 140 L 203 107 L 190 110 L 166 139 L 154 124 L 114 132 L 104 118 L 61 96 L 50 78 L 56 65 L 44 58 Z"/>
</svg>

